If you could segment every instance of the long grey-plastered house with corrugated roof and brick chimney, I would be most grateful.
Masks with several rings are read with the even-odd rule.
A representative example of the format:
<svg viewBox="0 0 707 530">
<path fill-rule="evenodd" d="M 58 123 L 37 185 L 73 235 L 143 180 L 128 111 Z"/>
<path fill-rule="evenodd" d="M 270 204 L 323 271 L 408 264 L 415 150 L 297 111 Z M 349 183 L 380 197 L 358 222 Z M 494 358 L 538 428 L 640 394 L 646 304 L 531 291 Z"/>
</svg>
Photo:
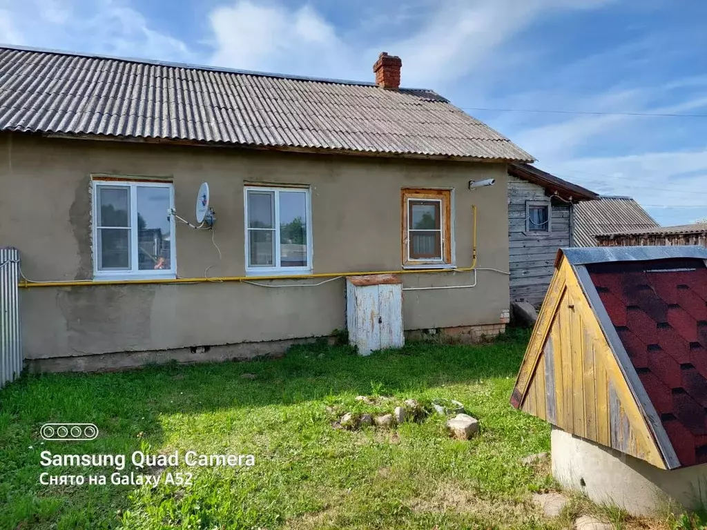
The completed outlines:
<svg viewBox="0 0 707 530">
<path fill-rule="evenodd" d="M 408 333 L 501 331 L 507 165 L 532 156 L 399 88 L 401 67 L 383 53 L 352 82 L 0 48 L 0 246 L 28 278 L 25 361 L 283 352 L 345 329 L 345 278 L 373 273 L 401 278 Z M 202 182 L 213 225 L 194 223 Z"/>
</svg>

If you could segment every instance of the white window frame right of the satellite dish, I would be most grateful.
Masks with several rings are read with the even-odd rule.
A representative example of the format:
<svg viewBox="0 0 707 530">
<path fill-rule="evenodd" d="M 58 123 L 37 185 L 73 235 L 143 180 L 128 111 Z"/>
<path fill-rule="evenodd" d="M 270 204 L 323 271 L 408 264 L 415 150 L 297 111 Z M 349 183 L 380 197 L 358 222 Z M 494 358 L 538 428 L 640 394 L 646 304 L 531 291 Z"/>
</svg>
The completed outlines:
<svg viewBox="0 0 707 530">
<path fill-rule="evenodd" d="M 274 266 L 252 266 L 250 264 L 250 232 L 252 228 L 248 226 L 248 194 L 249 192 L 273 192 L 274 202 Z M 281 234 L 280 234 L 280 193 L 302 193 L 305 195 L 305 216 L 307 224 L 307 265 L 296 267 L 284 267 L 281 265 Z M 246 276 L 273 276 L 288 274 L 306 274 L 313 270 L 314 240 L 312 240 L 312 189 L 305 186 L 259 186 L 257 184 L 245 184 L 243 186 L 243 214 L 245 232 L 245 275 Z"/>
</svg>

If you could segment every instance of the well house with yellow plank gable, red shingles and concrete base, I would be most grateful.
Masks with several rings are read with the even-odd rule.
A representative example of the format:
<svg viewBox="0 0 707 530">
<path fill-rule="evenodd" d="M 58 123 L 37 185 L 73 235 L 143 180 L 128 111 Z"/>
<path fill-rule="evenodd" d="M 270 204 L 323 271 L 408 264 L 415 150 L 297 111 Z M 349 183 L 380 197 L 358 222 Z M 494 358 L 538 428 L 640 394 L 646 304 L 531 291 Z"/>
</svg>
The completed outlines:
<svg viewBox="0 0 707 530">
<path fill-rule="evenodd" d="M 637 514 L 707 502 L 706 259 L 686 246 L 558 252 L 511 403 L 553 425 L 566 487 Z"/>
</svg>

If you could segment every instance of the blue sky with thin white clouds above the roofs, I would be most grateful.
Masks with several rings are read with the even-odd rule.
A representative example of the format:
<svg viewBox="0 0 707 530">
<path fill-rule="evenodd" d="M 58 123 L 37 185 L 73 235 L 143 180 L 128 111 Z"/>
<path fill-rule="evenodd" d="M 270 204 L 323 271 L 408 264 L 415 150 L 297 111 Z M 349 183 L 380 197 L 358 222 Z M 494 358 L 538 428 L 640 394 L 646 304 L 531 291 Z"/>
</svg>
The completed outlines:
<svg viewBox="0 0 707 530">
<path fill-rule="evenodd" d="M 707 117 L 612 114 L 707 114 L 703 0 L 0 0 L 0 42 L 363 81 L 387 51 L 542 169 L 707 218 Z"/>
</svg>

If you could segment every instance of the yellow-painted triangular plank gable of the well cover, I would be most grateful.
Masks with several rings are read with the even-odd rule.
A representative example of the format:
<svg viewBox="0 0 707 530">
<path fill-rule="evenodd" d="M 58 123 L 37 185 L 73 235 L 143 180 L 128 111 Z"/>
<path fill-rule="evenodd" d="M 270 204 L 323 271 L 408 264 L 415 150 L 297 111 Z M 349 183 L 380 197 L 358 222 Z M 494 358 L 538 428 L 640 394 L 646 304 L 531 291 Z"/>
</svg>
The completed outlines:
<svg viewBox="0 0 707 530">
<path fill-rule="evenodd" d="M 666 469 L 586 300 L 563 259 L 523 360 L 514 396 L 527 413 Z"/>
</svg>

